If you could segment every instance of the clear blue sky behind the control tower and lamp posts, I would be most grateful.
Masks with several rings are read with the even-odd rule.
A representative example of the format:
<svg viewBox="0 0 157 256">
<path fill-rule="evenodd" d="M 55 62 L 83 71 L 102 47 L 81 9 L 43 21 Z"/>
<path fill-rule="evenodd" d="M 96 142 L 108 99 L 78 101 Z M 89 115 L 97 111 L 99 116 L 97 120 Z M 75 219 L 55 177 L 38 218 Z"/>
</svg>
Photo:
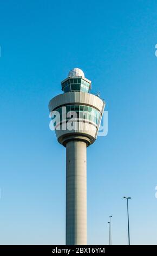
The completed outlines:
<svg viewBox="0 0 157 256">
<path fill-rule="evenodd" d="M 64 244 L 66 149 L 48 102 L 81 68 L 108 135 L 88 148 L 88 244 L 157 244 L 157 2 L 1 1 L 0 243 Z"/>
</svg>

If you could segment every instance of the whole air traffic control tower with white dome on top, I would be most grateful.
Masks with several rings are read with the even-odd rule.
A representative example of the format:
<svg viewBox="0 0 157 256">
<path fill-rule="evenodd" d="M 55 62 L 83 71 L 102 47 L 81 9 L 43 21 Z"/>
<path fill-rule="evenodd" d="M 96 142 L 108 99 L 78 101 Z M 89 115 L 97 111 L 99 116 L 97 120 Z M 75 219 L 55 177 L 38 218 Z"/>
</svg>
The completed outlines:
<svg viewBox="0 0 157 256">
<path fill-rule="evenodd" d="M 95 142 L 104 101 L 90 94 L 81 69 L 61 82 L 49 102 L 57 140 L 66 147 L 66 245 L 87 245 L 87 147 Z"/>
</svg>

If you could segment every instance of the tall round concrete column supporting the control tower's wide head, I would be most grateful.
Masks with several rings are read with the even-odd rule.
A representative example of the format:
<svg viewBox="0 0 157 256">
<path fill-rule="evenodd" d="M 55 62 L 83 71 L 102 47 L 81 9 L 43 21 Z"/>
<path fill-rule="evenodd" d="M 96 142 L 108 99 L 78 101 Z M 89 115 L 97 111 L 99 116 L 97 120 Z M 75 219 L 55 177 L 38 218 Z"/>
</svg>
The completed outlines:
<svg viewBox="0 0 157 256">
<path fill-rule="evenodd" d="M 87 245 L 87 146 L 73 140 L 66 148 L 66 245 Z"/>
</svg>

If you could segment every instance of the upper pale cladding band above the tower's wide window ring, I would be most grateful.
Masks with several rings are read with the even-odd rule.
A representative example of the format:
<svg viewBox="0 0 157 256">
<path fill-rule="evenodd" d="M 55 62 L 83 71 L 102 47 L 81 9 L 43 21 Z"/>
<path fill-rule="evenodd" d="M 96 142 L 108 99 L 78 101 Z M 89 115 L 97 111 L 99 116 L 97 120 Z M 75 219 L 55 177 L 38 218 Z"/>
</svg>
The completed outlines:
<svg viewBox="0 0 157 256">
<path fill-rule="evenodd" d="M 94 107 L 101 113 L 103 112 L 105 106 L 104 101 L 93 94 L 83 92 L 69 92 L 55 96 L 49 102 L 49 111 L 51 112 L 57 107 L 72 103 Z"/>
</svg>

